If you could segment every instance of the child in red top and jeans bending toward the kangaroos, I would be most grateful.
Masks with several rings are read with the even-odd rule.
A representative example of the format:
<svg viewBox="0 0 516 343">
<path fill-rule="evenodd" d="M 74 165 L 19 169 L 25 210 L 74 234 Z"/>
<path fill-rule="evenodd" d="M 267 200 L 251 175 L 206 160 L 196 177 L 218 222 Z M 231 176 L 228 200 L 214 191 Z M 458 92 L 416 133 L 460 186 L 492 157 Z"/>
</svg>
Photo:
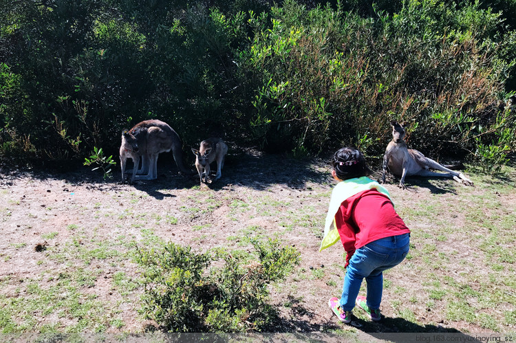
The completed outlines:
<svg viewBox="0 0 516 343">
<path fill-rule="evenodd" d="M 351 322 L 355 304 L 377 321 L 382 272 L 407 256 L 410 230 L 394 210 L 389 192 L 367 177 L 371 170 L 360 151 L 341 148 L 332 164 L 332 176 L 339 182 L 332 191 L 320 250 L 341 239 L 347 270 L 341 298 L 331 298 L 328 305 L 341 322 Z M 363 278 L 367 297 L 358 296 Z"/>
</svg>

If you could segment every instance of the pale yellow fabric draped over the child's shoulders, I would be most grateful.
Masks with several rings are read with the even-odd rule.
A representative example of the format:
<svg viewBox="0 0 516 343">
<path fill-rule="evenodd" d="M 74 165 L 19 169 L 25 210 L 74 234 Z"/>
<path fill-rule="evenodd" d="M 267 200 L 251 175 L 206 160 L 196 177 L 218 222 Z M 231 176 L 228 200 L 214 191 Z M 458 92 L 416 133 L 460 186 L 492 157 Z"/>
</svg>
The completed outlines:
<svg viewBox="0 0 516 343">
<path fill-rule="evenodd" d="M 335 214 L 337 214 L 338 208 L 341 207 L 341 203 L 349 197 L 370 189 L 376 189 L 378 192 L 382 192 L 391 199 L 389 191 L 387 191 L 384 186 L 378 184 L 378 182 L 369 179 L 369 177 L 358 177 L 355 179 L 340 181 L 336 184 L 335 188 L 333 188 L 330 206 L 328 206 L 328 212 L 326 214 L 324 237 L 321 242 L 321 247 L 319 248 L 320 252 L 341 240 L 341 236 L 338 235 L 335 225 Z"/>
</svg>

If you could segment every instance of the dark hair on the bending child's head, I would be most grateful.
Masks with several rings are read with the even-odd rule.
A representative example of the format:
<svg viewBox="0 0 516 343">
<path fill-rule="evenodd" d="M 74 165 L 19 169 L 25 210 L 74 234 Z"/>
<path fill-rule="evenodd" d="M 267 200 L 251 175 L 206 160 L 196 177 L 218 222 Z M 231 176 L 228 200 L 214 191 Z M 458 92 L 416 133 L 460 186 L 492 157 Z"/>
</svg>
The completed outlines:
<svg viewBox="0 0 516 343">
<path fill-rule="evenodd" d="M 345 147 L 338 150 L 333 156 L 332 166 L 341 180 L 372 174 L 365 163 L 364 155 L 356 148 Z"/>
</svg>

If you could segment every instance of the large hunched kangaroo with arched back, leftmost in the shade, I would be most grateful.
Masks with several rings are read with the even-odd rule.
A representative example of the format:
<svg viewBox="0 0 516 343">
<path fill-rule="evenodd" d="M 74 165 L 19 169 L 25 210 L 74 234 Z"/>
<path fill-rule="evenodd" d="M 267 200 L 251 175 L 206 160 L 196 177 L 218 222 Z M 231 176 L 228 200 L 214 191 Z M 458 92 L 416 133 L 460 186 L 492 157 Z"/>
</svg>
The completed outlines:
<svg viewBox="0 0 516 343">
<path fill-rule="evenodd" d="M 184 166 L 181 140 L 175 131 L 160 120 L 144 120 L 131 130 L 122 131 L 120 145 L 120 166 L 122 181 L 125 179 L 127 158 L 134 162 L 131 182 L 136 180 L 153 180 L 158 178 L 158 155 L 172 151 L 175 164 L 182 173 L 191 174 Z M 140 165 L 142 157 L 142 166 Z"/>
</svg>

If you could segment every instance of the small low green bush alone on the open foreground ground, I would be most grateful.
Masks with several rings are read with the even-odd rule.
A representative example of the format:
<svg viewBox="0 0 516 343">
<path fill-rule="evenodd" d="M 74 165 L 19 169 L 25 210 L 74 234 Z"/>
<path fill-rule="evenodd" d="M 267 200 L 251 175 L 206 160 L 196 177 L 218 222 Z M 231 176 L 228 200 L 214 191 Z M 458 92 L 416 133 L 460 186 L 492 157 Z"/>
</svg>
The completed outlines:
<svg viewBox="0 0 516 343">
<path fill-rule="evenodd" d="M 220 249 L 196 254 L 173 243 L 141 248 L 142 313 L 170 332 L 263 330 L 276 318 L 268 284 L 283 280 L 300 254 L 277 240 L 252 245 L 252 256 Z"/>
</svg>

